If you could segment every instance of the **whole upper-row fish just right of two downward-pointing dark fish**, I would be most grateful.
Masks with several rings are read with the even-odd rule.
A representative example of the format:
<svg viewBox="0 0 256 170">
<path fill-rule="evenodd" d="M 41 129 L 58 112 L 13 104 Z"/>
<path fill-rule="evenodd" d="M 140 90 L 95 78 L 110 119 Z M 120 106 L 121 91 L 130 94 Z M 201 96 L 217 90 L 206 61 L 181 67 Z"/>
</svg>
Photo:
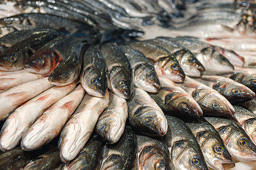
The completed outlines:
<svg viewBox="0 0 256 170">
<path fill-rule="evenodd" d="M 128 58 L 133 69 L 133 83 L 135 87 L 142 88 L 148 92 L 158 92 L 160 82 L 154 66 L 138 50 L 134 50 L 129 45 L 118 45 L 125 56 Z"/>
</svg>

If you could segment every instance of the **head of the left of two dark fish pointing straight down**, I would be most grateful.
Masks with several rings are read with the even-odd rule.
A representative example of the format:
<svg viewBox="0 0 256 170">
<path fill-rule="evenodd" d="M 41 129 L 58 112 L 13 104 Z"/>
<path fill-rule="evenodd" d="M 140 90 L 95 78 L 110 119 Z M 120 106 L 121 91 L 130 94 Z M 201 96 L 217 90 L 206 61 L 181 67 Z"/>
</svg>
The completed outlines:
<svg viewBox="0 0 256 170">
<path fill-rule="evenodd" d="M 89 66 L 81 75 L 82 87 L 85 87 L 89 95 L 103 97 L 108 88 L 106 71 L 100 70 L 96 66 Z"/>
</svg>

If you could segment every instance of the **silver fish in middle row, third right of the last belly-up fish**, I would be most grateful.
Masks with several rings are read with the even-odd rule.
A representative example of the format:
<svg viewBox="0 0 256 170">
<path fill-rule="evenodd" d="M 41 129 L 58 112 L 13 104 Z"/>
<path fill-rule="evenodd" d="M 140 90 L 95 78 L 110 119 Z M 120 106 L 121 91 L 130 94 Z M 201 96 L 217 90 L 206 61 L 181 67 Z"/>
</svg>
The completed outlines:
<svg viewBox="0 0 256 170">
<path fill-rule="evenodd" d="M 229 116 L 234 114 L 234 108 L 229 101 L 216 90 L 187 77 L 178 86 L 188 92 L 197 101 L 204 114 L 212 116 Z"/>
</svg>

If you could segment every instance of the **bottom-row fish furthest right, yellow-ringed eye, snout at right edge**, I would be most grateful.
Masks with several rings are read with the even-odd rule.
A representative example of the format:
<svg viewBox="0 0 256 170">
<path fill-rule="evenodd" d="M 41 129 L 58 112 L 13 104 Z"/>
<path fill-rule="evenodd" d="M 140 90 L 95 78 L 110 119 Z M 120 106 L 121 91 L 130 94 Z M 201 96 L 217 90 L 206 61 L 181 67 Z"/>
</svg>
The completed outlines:
<svg viewBox="0 0 256 170">
<path fill-rule="evenodd" d="M 256 146 L 240 125 L 229 118 L 205 117 L 205 120 L 218 131 L 234 159 L 243 162 L 256 161 Z"/>
</svg>

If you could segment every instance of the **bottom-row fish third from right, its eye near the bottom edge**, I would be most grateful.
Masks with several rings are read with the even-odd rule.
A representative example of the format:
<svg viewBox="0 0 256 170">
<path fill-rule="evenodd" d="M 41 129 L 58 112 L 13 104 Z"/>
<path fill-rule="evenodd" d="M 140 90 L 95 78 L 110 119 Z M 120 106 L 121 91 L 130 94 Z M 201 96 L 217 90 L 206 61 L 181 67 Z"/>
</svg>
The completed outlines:
<svg viewBox="0 0 256 170">
<path fill-rule="evenodd" d="M 168 131 L 164 136 L 175 169 L 208 169 L 200 146 L 188 126 L 179 118 L 166 116 Z"/>
</svg>

